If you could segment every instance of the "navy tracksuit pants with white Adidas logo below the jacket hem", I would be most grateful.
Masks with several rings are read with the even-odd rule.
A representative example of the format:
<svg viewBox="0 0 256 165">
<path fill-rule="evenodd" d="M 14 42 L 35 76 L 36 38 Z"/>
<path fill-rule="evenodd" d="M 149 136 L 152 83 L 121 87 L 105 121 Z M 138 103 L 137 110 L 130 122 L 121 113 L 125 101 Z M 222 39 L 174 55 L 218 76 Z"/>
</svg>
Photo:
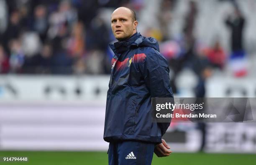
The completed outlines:
<svg viewBox="0 0 256 165">
<path fill-rule="evenodd" d="M 154 143 L 123 141 L 109 143 L 109 165 L 151 165 Z"/>
</svg>

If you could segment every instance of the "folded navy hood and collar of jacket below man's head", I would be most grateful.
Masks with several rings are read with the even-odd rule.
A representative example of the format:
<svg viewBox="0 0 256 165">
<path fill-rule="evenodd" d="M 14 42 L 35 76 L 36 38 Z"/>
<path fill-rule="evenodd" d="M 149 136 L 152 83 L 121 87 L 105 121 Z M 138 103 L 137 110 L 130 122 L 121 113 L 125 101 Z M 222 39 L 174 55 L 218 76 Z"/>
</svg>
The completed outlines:
<svg viewBox="0 0 256 165">
<path fill-rule="evenodd" d="M 143 37 L 141 33 L 135 33 L 128 40 L 118 41 L 113 44 L 109 44 L 115 55 L 118 57 L 125 51 L 132 49 L 133 47 L 152 47 L 159 51 L 159 44 L 153 37 Z"/>
</svg>

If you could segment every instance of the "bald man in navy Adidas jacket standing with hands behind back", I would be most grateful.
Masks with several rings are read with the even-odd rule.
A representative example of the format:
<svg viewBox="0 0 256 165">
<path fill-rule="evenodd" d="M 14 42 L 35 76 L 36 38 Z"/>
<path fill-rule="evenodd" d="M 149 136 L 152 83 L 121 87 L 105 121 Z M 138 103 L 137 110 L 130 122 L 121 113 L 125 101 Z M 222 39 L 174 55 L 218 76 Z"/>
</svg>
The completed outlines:
<svg viewBox="0 0 256 165">
<path fill-rule="evenodd" d="M 151 165 L 154 151 L 169 156 L 161 137 L 170 123 L 152 120 L 151 97 L 173 97 L 169 67 L 159 53 L 158 42 L 137 33 L 136 14 L 119 7 L 111 15 L 118 42 L 107 95 L 104 140 L 109 142 L 110 165 Z"/>
</svg>

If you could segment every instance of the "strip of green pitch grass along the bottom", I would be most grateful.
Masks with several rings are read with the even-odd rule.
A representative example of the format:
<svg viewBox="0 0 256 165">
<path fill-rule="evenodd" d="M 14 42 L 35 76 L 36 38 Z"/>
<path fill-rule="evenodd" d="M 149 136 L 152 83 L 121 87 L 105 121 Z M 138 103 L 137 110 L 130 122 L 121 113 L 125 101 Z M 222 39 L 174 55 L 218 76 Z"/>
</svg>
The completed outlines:
<svg viewBox="0 0 256 165">
<path fill-rule="evenodd" d="M 3 157 L 28 157 L 29 161 L 3 162 Z M 0 165 L 108 165 L 106 152 L 0 151 Z M 253 154 L 172 153 L 152 165 L 256 165 Z"/>
</svg>

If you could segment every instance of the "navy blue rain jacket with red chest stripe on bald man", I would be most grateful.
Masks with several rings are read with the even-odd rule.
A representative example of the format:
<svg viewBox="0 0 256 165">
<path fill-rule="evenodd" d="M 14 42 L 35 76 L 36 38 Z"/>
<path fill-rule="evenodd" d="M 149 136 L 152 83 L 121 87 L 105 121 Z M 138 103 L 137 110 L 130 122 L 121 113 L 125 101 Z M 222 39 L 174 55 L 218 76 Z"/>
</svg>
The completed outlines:
<svg viewBox="0 0 256 165">
<path fill-rule="evenodd" d="M 156 39 L 134 34 L 110 44 L 115 53 L 107 95 L 104 140 L 161 143 L 170 123 L 152 120 L 151 97 L 173 97 L 166 59 Z"/>
</svg>

